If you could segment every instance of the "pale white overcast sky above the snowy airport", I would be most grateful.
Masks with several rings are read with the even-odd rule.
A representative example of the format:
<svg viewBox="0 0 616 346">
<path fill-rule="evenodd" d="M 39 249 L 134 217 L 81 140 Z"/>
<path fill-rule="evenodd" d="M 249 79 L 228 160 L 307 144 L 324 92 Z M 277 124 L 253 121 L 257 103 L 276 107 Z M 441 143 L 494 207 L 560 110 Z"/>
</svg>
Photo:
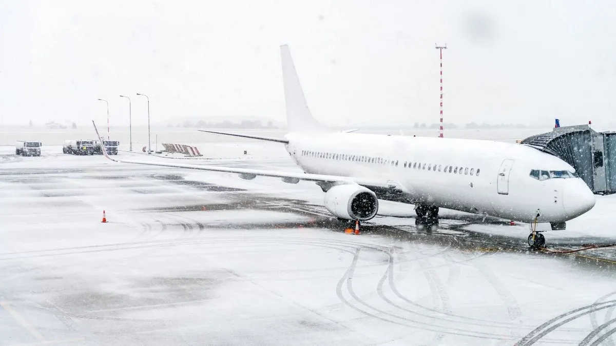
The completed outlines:
<svg viewBox="0 0 616 346">
<path fill-rule="evenodd" d="M 0 0 L 3 124 L 284 121 L 281 44 L 330 125 L 614 123 L 616 4 Z"/>
</svg>

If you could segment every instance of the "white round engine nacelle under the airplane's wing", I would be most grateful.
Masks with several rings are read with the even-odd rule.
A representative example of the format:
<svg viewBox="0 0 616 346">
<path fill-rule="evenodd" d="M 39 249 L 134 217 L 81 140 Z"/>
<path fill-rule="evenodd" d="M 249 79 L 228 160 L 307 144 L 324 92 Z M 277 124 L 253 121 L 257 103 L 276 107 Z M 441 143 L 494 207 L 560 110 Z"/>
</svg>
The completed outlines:
<svg viewBox="0 0 616 346">
<path fill-rule="evenodd" d="M 336 185 L 325 193 L 325 208 L 347 220 L 370 220 L 379 210 L 376 194 L 354 184 Z"/>
</svg>

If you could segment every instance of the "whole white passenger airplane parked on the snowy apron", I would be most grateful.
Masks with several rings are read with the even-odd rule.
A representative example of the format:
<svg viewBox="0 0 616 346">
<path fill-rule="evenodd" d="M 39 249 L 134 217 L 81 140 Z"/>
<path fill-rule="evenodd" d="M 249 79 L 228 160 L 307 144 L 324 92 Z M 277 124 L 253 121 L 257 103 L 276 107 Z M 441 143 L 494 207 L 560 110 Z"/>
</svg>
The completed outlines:
<svg viewBox="0 0 616 346">
<path fill-rule="evenodd" d="M 567 220 L 595 204 L 572 166 L 526 145 L 328 129 L 310 113 L 289 47 L 280 50 L 288 124 L 284 138 L 200 131 L 281 143 L 303 173 L 113 159 L 105 148 L 103 154 L 121 163 L 230 172 L 248 180 L 259 175 L 286 183 L 315 182 L 325 192 L 325 208 L 353 222 L 375 217 L 383 199 L 414 204 L 420 229 L 437 227 L 439 208 L 531 223 L 528 242 L 534 248 L 545 246 L 537 223 L 564 230 Z"/>
</svg>

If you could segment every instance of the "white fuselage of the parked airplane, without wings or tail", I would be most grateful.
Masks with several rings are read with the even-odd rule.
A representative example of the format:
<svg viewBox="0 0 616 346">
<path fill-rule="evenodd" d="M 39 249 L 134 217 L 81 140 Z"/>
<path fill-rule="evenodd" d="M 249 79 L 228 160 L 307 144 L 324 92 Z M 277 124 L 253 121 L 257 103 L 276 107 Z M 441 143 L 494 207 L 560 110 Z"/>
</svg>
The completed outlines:
<svg viewBox="0 0 616 346">
<path fill-rule="evenodd" d="M 533 179 L 533 169 L 575 169 L 525 145 L 339 132 L 292 132 L 286 139 L 304 172 L 392 180 L 408 203 L 521 222 L 539 215 L 538 222 L 554 223 L 578 217 L 595 203 L 580 178 Z"/>
</svg>

